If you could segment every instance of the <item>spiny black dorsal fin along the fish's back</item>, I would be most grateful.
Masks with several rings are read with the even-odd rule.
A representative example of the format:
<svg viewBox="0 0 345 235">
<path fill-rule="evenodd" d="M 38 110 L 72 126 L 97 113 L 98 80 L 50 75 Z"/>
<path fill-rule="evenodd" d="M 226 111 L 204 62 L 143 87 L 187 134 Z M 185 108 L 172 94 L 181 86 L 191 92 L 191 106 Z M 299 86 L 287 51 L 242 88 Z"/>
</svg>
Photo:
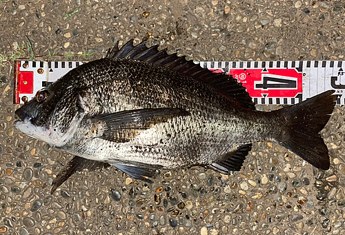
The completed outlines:
<svg viewBox="0 0 345 235">
<path fill-rule="evenodd" d="M 243 108 L 255 110 L 255 104 L 250 98 L 246 88 L 238 83 L 233 76 L 225 73 L 213 73 L 206 68 L 201 68 L 200 65 L 193 63 L 193 61 L 187 61 L 186 57 L 177 57 L 177 54 L 168 54 L 166 49 L 158 50 L 158 45 L 148 48 L 146 41 L 133 45 L 133 40 L 128 41 L 120 49 L 118 48 L 118 42 L 112 50 L 108 50 L 106 58 L 127 58 L 135 59 L 137 61 L 146 61 L 155 65 L 161 65 L 170 70 L 184 73 L 188 76 L 193 76 L 195 79 L 200 79 L 210 85 L 213 88 L 219 90 L 221 94 L 230 96 L 239 102 Z"/>
</svg>

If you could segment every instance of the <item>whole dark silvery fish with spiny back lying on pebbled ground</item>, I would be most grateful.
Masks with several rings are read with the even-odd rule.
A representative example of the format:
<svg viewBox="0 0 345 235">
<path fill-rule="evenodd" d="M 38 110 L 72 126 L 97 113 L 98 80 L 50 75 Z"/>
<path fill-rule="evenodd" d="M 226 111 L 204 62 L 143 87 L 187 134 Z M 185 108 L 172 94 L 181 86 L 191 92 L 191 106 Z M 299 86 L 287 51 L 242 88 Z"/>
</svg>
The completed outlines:
<svg viewBox="0 0 345 235">
<path fill-rule="evenodd" d="M 75 156 L 52 192 L 77 171 L 110 165 L 148 183 L 159 170 L 197 165 L 229 174 L 242 169 L 257 141 L 328 170 L 319 132 L 335 108 L 334 93 L 260 112 L 233 76 L 130 40 L 39 90 L 15 111 L 14 126 Z"/>
</svg>

